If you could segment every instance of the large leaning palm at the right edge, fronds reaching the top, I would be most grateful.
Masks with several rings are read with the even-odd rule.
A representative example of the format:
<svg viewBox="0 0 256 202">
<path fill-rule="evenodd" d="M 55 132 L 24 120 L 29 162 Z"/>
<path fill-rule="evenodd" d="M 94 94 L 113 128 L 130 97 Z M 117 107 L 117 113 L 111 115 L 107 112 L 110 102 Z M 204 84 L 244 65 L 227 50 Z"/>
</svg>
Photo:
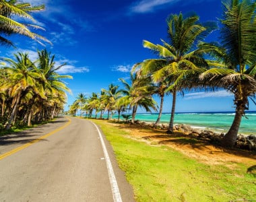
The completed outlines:
<svg viewBox="0 0 256 202">
<path fill-rule="evenodd" d="M 201 79 L 210 81 L 210 86 L 224 88 L 234 94 L 234 121 L 222 139 L 222 145 L 233 147 L 242 116 L 249 109 L 249 98 L 253 100 L 256 93 L 256 2 L 231 0 L 222 4 L 222 45 L 201 43 L 200 46 L 219 59 L 224 67 L 205 71 Z"/>
</svg>

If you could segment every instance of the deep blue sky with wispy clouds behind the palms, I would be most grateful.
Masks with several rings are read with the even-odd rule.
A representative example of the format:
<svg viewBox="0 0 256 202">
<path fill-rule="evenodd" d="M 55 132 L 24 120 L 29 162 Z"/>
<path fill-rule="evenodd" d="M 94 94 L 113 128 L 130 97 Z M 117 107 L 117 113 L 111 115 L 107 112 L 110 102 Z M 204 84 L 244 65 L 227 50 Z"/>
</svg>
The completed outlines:
<svg viewBox="0 0 256 202">
<path fill-rule="evenodd" d="M 200 22 L 218 21 L 222 15 L 219 0 L 27 0 L 31 5 L 44 4 L 46 9 L 33 13 L 36 24 L 44 31 L 33 30 L 53 44 L 44 46 L 25 36 L 9 37 L 17 48 L 0 47 L 1 57 L 11 57 L 17 51 L 27 52 L 36 59 L 37 50 L 46 48 L 55 55 L 56 65 L 67 63 L 60 74 L 72 75 L 66 79 L 72 94 L 67 94 L 68 106 L 77 94 L 90 96 L 100 93 L 110 83 L 123 88 L 119 78 L 129 79 L 131 67 L 145 59 L 157 56 L 142 41 L 160 43 L 167 40 L 166 18 L 172 13 L 197 13 Z M 206 41 L 218 40 L 212 32 Z M 159 102 L 159 98 L 155 97 Z M 172 96 L 166 96 L 164 112 L 170 112 Z M 250 102 L 250 110 L 256 110 Z M 234 111 L 233 96 L 219 92 L 185 92 L 177 98 L 177 112 Z M 143 112 L 143 110 L 139 110 Z"/>
</svg>

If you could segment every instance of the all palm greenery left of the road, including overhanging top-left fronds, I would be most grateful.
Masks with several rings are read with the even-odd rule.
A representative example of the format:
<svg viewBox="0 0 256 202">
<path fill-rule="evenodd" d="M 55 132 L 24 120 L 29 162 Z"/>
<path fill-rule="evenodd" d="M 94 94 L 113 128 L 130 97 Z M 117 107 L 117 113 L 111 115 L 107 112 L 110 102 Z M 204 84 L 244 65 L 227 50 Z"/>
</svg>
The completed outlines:
<svg viewBox="0 0 256 202">
<path fill-rule="evenodd" d="M 9 36 L 18 34 L 36 40 L 51 42 L 32 32 L 44 30 L 36 25 L 31 13 L 44 10 L 44 5 L 33 6 L 17 0 L 0 0 L 0 44 L 15 46 Z M 27 53 L 14 54 L 0 62 L 0 129 L 11 126 L 39 123 L 57 115 L 63 110 L 66 91 L 61 79 L 71 78 L 59 75 L 55 67 L 55 56 L 46 50 L 38 51 L 38 59 L 31 61 Z M 65 65 L 65 64 L 64 64 Z"/>
</svg>

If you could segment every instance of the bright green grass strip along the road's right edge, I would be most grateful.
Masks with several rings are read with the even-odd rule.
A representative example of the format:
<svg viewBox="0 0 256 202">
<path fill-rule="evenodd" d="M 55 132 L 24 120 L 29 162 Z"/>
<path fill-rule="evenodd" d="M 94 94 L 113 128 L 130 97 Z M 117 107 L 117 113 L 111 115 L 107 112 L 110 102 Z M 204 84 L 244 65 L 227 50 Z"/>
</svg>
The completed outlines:
<svg viewBox="0 0 256 202">
<path fill-rule="evenodd" d="M 247 174 L 247 165 L 230 162 L 232 170 L 209 166 L 169 147 L 130 139 L 129 133 L 104 121 L 93 121 L 113 145 L 136 201 L 256 201 L 256 178 Z"/>
</svg>

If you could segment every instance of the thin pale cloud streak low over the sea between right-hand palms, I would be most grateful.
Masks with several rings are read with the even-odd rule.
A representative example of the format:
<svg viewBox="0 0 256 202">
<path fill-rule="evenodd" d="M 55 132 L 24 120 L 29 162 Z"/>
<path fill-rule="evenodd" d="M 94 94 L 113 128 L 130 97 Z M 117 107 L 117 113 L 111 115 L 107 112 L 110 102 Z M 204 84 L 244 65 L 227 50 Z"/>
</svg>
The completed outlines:
<svg viewBox="0 0 256 202">
<path fill-rule="evenodd" d="M 185 94 L 185 100 L 199 99 L 199 98 L 216 98 L 216 97 L 230 97 L 232 94 L 226 92 L 226 90 L 220 90 L 218 92 L 196 92 L 191 94 Z"/>
</svg>

